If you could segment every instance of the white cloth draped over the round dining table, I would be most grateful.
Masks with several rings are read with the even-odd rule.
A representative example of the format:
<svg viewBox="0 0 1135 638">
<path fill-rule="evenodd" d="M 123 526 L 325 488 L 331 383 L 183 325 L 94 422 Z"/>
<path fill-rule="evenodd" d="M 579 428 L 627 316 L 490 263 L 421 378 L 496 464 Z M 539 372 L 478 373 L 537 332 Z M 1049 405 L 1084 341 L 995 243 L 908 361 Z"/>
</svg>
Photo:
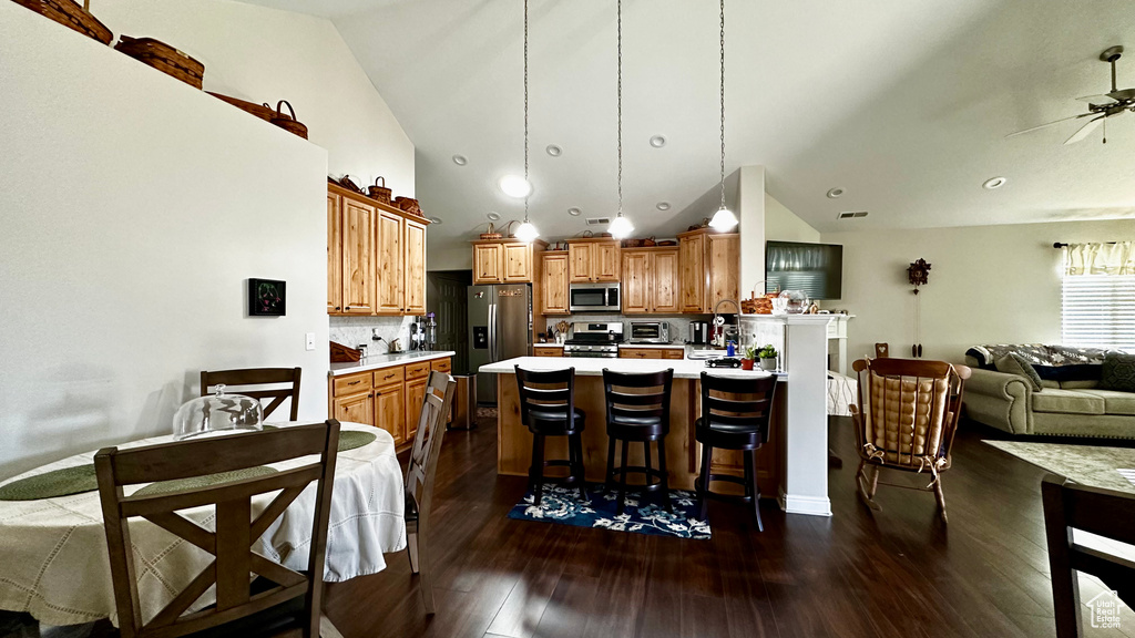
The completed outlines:
<svg viewBox="0 0 1135 638">
<path fill-rule="evenodd" d="M 402 471 L 394 439 L 386 430 L 370 426 L 342 426 L 343 430 L 375 433 L 378 438 L 338 455 L 323 571 L 328 582 L 379 572 L 386 568 L 384 552 L 406 546 Z M 168 436 L 148 438 L 119 447 L 169 440 Z M 92 463 L 93 459 L 93 452 L 78 454 L 11 480 Z M 272 467 L 286 469 L 304 462 L 310 457 Z M 275 494 L 253 500 L 253 517 Z M 253 549 L 289 569 L 306 569 L 314 503 L 312 484 Z M 200 507 L 182 513 L 213 529 L 212 512 L 212 507 Z M 204 551 L 143 519 L 131 520 L 131 538 L 144 619 L 161 610 L 212 560 Z M 211 602 L 210 593 L 201 604 Z M 42 501 L 0 501 L 0 610 L 30 612 L 45 624 L 110 618 L 117 626 L 98 492 Z"/>
</svg>

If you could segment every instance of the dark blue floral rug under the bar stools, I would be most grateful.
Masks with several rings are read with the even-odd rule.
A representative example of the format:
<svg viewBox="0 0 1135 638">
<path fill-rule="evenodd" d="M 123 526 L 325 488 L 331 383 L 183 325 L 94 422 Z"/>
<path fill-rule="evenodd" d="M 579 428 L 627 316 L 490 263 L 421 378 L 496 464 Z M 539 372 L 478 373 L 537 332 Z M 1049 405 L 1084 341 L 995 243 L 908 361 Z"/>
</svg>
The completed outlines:
<svg viewBox="0 0 1135 638">
<path fill-rule="evenodd" d="M 616 514 L 619 494 L 612 489 L 603 493 L 603 485 L 588 485 L 590 503 L 579 498 L 579 489 L 558 485 L 545 485 L 539 505 L 532 504 L 532 494 L 508 512 L 510 519 L 543 521 L 575 527 L 592 527 L 613 531 L 633 531 L 653 536 L 676 536 L 678 538 L 709 538 L 709 522 L 698 520 L 697 498 L 692 492 L 670 490 L 670 502 L 674 506 L 671 514 L 661 506 L 658 494 L 642 498 L 637 490 L 628 489 L 622 514 Z"/>
</svg>

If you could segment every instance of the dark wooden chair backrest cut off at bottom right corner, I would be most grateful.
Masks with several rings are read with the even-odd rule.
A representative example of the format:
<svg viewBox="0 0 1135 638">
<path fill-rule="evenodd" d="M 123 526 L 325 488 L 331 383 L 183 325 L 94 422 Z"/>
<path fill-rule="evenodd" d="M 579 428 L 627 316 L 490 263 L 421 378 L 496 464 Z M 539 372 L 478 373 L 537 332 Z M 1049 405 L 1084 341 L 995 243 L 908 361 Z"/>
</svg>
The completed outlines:
<svg viewBox="0 0 1135 638">
<path fill-rule="evenodd" d="M 1079 586 L 1076 572 L 1090 573 L 1115 591 L 1128 607 L 1135 606 L 1135 562 L 1100 549 L 1077 545 L 1073 528 L 1127 545 L 1135 545 L 1135 495 L 1087 487 L 1048 475 L 1041 482 L 1044 503 L 1044 531 L 1049 542 L 1049 571 L 1052 576 L 1052 602 L 1057 638 L 1081 633 Z M 1111 593 L 1102 593 L 1087 604 L 1117 603 Z M 1119 605 L 1113 607 L 1119 613 Z M 1102 610 L 1095 611 L 1100 620 Z"/>
</svg>

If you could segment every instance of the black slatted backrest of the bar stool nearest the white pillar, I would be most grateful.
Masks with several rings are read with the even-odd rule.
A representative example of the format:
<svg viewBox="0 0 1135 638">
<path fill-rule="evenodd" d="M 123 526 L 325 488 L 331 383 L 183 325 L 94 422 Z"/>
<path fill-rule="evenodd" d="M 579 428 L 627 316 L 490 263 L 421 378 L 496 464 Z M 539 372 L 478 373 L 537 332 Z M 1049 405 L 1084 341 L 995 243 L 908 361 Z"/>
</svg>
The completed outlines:
<svg viewBox="0 0 1135 638">
<path fill-rule="evenodd" d="M 701 372 L 701 422 L 711 426 L 751 427 L 768 443 L 776 375 L 717 377 Z"/>
</svg>

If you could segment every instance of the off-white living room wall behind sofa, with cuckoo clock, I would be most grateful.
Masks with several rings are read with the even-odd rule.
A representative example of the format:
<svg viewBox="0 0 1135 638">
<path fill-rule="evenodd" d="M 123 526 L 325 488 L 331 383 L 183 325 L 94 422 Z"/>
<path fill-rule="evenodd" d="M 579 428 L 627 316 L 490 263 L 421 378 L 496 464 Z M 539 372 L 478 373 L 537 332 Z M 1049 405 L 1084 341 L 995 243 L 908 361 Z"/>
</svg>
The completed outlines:
<svg viewBox="0 0 1135 638">
<path fill-rule="evenodd" d="M 970 345 L 1060 342 L 1061 251 L 1053 242 L 1135 240 L 1135 220 L 824 233 L 843 244 L 848 355 L 874 353 L 876 342 L 909 356 L 914 297 L 906 269 L 932 265 L 922 287 L 925 359 L 962 362 Z"/>
</svg>

